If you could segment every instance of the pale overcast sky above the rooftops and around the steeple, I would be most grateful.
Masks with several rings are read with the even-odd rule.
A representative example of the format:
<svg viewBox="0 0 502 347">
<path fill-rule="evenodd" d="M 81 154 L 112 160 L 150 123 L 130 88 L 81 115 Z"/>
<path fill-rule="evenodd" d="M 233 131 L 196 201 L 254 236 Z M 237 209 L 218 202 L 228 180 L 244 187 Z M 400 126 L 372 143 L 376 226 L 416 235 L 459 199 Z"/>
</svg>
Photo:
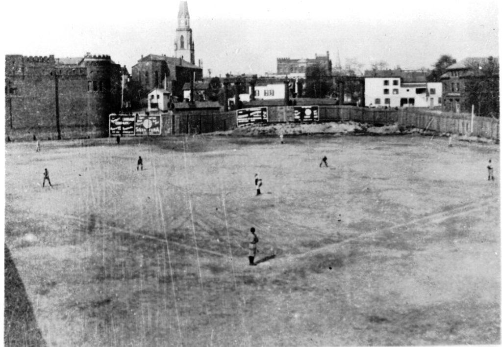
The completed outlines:
<svg viewBox="0 0 502 347">
<path fill-rule="evenodd" d="M 498 4 L 480 1 L 188 0 L 195 59 L 211 75 L 276 72 L 277 58 L 329 51 L 333 65 L 355 58 L 369 68 L 430 68 L 498 56 Z M 4 2 L 4 54 L 108 54 L 131 71 L 141 55 L 174 56 L 179 1 Z"/>
</svg>

